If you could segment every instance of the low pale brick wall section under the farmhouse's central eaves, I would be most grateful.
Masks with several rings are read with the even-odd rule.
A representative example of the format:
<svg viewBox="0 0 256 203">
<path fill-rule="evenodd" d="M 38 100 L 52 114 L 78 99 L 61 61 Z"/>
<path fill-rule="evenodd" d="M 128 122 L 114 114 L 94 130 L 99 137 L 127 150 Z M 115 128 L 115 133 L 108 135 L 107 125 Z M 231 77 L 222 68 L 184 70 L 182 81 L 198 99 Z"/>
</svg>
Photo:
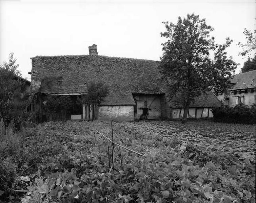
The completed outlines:
<svg viewBox="0 0 256 203">
<path fill-rule="evenodd" d="M 98 111 L 99 120 L 133 121 L 133 105 L 104 105 Z"/>
</svg>

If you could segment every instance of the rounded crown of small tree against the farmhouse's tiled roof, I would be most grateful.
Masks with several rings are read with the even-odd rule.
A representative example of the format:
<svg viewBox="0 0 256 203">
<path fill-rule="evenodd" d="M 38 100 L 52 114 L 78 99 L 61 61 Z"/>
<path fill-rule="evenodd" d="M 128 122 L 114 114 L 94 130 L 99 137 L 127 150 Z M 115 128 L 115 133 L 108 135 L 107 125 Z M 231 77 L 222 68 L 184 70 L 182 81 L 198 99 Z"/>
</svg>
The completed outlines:
<svg viewBox="0 0 256 203">
<path fill-rule="evenodd" d="M 91 82 L 87 85 L 87 94 L 82 95 L 81 103 L 86 105 L 100 105 L 104 97 L 109 94 L 109 89 L 103 83 Z"/>
</svg>

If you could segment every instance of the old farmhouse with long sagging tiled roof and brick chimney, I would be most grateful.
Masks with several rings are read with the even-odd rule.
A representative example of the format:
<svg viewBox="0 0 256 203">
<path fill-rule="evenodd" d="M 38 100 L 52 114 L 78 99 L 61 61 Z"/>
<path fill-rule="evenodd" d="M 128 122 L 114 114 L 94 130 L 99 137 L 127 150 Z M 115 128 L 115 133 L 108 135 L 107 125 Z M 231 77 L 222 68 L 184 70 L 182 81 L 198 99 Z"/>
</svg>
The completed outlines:
<svg viewBox="0 0 256 203">
<path fill-rule="evenodd" d="M 133 121 L 141 119 L 145 109 L 149 112 L 147 119 L 172 119 L 172 111 L 177 109 L 177 105 L 172 108 L 174 104 L 160 81 L 157 61 L 98 55 L 95 44 L 89 46 L 89 55 L 36 56 L 31 59 L 31 94 L 40 92 L 76 97 L 87 93 L 90 82 L 102 82 L 108 86 L 109 95 L 99 107 L 81 106 L 70 115 L 64 114 L 66 119 Z M 58 79 L 51 83 L 51 88 L 44 88 L 42 81 L 48 76 Z M 219 105 L 215 96 L 214 99 L 206 96 L 198 107 Z M 35 110 L 41 108 L 41 104 L 32 106 Z"/>
</svg>

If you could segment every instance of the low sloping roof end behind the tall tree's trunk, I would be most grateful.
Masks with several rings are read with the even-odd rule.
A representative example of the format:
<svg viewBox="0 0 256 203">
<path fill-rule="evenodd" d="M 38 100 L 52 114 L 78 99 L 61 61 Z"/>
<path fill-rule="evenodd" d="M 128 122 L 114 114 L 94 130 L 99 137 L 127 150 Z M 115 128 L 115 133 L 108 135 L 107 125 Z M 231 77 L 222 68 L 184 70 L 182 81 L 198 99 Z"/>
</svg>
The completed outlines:
<svg viewBox="0 0 256 203">
<path fill-rule="evenodd" d="M 169 101 L 172 108 L 182 108 L 181 103 L 178 103 L 175 98 Z M 195 101 L 190 105 L 190 107 L 220 107 L 220 100 L 214 95 L 212 91 L 207 91 L 202 93 L 200 96 L 195 98 Z"/>
</svg>

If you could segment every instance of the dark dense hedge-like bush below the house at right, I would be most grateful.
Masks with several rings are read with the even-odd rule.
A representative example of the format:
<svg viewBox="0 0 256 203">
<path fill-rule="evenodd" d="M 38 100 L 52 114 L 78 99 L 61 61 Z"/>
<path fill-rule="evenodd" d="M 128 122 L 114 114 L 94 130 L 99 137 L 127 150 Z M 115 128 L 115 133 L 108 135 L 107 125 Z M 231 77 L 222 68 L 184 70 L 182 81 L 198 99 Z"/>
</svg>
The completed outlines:
<svg viewBox="0 0 256 203">
<path fill-rule="evenodd" d="M 251 108 L 244 104 L 234 107 L 222 106 L 212 109 L 213 120 L 227 123 L 255 124 L 256 105 Z"/>
</svg>

